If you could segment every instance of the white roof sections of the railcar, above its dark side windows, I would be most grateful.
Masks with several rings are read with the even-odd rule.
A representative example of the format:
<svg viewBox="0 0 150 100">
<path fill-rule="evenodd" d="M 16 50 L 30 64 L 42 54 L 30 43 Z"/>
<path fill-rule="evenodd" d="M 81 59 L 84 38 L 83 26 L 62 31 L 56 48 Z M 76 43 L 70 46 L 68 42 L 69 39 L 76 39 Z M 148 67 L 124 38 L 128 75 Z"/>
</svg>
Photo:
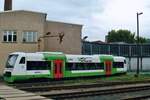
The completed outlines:
<svg viewBox="0 0 150 100">
<path fill-rule="evenodd" d="M 43 60 L 43 54 L 63 54 L 62 52 L 35 52 L 35 53 L 25 53 L 25 52 L 14 52 L 11 54 L 18 54 L 22 56 L 26 56 L 28 60 Z M 10 54 L 10 55 L 11 55 Z M 113 55 L 105 55 L 105 54 L 94 54 L 94 55 L 73 55 L 73 54 L 64 54 L 66 56 L 66 60 L 68 62 L 100 62 L 100 57 L 113 57 L 115 61 L 124 60 L 125 57 L 121 56 L 113 56 Z"/>
</svg>

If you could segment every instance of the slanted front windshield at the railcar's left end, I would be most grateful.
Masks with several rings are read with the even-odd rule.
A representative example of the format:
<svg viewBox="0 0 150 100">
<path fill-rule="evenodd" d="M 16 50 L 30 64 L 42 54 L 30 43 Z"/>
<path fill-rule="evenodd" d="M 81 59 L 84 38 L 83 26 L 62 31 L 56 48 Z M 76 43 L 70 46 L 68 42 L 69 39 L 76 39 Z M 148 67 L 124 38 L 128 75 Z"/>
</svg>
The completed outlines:
<svg viewBox="0 0 150 100">
<path fill-rule="evenodd" d="M 6 63 L 6 68 L 13 68 L 16 63 L 17 57 L 18 55 L 10 55 Z"/>
</svg>

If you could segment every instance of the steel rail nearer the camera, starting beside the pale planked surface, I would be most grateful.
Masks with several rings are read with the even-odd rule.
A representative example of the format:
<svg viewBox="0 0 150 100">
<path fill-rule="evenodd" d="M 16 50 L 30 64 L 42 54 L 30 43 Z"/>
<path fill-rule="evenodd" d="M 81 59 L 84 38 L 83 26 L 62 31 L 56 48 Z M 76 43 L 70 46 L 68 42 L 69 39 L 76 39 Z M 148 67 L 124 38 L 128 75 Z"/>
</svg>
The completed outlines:
<svg viewBox="0 0 150 100">
<path fill-rule="evenodd" d="M 66 93 L 37 93 L 38 95 L 42 95 L 45 97 L 53 98 L 53 99 L 64 99 L 64 98 L 79 98 L 85 96 L 94 96 L 94 95 L 108 95 L 108 94 L 117 94 L 117 93 L 125 93 L 125 92 L 135 92 L 135 91 L 142 91 L 142 90 L 149 90 L 150 86 L 144 87 L 129 87 L 129 88 L 119 88 L 119 89 L 108 89 L 108 90 L 78 90 Z"/>
</svg>

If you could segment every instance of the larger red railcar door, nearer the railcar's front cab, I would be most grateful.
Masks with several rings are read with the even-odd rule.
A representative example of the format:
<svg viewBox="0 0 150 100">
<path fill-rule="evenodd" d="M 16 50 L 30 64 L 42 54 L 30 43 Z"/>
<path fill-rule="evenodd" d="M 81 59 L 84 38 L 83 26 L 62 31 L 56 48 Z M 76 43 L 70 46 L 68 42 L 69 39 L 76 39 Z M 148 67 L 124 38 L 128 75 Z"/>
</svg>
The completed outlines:
<svg viewBox="0 0 150 100">
<path fill-rule="evenodd" d="M 63 61 L 54 60 L 54 78 L 60 79 L 63 77 Z"/>
</svg>

